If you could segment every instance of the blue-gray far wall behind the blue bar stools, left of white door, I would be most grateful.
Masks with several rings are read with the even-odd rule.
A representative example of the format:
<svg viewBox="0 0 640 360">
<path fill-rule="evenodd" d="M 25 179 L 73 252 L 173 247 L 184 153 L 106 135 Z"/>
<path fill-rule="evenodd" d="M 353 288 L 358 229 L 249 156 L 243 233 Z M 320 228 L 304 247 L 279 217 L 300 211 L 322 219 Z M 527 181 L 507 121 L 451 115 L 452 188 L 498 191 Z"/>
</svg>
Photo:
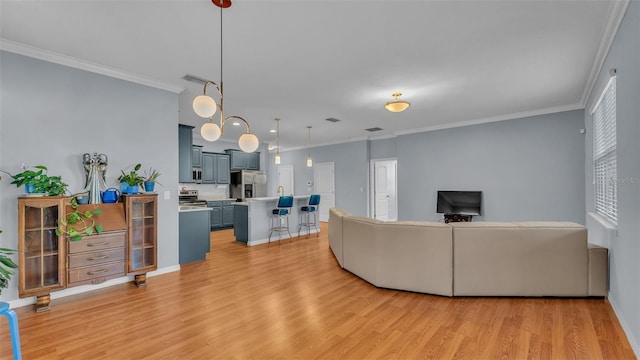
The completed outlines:
<svg viewBox="0 0 640 360">
<path fill-rule="evenodd" d="M 283 151 L 280 165 L 293 165 L 295 195 L 308 195 L 307 181 L 313 181 L 313 168 L 308 168 L 307 149 Z M 275 196 L 278 187 L 278 171 L 274 163 L 275 153 L 268 156 L 268 195 Z M 319 146 L 311 149 L 314 164 L 332 162 L 335 172 L 335 205 L 354 215 L 367 215 L 368 194 L 368 144 L 356 141 L 344 144 Z"/>
</svg>

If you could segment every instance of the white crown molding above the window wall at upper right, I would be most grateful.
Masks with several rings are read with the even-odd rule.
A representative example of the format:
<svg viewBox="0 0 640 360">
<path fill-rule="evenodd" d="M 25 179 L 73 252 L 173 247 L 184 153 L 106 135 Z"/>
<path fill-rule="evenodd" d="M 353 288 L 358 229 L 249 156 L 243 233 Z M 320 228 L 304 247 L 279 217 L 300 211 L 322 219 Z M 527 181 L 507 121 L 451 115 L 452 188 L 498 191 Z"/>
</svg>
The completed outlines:
<svg viewBox="0 0 640 360">
<path fill-rule="evenodd" d="M 622 23 L 622 19 L 624 19 L 624 14 L 627 12 L 627 8 L 630 3 L 631 0 L 613 1 L 613 9 L 609 14 L 609 21 L 607 21 L 607 26 L 605 26 L 604 31 L 602 32 L 602 38 L 600 39 L 600 45 L 598 46 L 596 57 L 593 61 L 593 67 L 591 68 L 589 79 L 587 80 L 587 86 L 584 88 L 584 92 L 582 93 L 582 100 L 580 101 L 582 107 L 586 106 L 587 101 L 589 101 L 589 97 L 591 97 L 593 87 L 598 79 L 598 74 L 600 74 L 602 66 L 604 66 L 604 62 L 607 59 L 609 50 L 611 49 L 611 45 L 613 45 L 613 40 L 616 37 L 618 28 L 620 28 L 620 24 Z"/>
</svg>

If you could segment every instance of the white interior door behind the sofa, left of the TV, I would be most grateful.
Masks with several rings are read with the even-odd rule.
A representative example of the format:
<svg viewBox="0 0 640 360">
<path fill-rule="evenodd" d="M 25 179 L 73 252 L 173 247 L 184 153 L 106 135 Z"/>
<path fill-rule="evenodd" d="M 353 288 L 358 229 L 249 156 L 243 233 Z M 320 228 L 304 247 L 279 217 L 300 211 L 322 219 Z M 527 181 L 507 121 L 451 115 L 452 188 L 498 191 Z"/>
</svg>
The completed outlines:
<svg viewBox="0 0 640 360">
<path fill-rule="evenodd" d="M 398 219 L 397 160 L 373 161 L 373 217 L 378 220 Z"/>
</svg>

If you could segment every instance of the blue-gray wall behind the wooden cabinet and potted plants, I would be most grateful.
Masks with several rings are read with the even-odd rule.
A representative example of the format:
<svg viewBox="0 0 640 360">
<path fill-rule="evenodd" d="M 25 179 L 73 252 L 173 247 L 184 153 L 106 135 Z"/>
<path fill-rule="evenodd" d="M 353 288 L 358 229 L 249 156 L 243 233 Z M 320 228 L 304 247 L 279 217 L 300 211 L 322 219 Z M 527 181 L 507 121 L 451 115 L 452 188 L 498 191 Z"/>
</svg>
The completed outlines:
<svg viewBox="0 0 640 360">
<path fill-rule="evenodd" d="M 171 192 L 158 202 L 158 267 L 177 266 L 178 94 L 4 51 L 0 76 L 0 169 L 46 165 L 77 192 L 85 152 L 109 157 L 113 187 L 120 169 L 153 166 L 162 173 L 158 190 Z M 16 198 L 24 189 L 9 182 L 0 183 L 0 246 L 17 248 Z M 18 298 L 17 278 L 3 299 Z"/>
</svg>

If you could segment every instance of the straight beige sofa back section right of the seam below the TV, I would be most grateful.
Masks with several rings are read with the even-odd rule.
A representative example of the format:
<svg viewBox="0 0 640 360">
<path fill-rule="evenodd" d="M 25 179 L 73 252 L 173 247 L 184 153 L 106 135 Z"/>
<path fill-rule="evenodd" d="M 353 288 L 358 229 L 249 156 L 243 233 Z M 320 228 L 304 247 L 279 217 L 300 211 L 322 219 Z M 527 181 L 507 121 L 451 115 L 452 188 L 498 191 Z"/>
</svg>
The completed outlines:
<svg viewBox="0 0 640 360">
<path fill-rule="evenodd" d="M 452 223 L 454 295 L 587 296 L 587 230 L 566 222 Z"/>
</svg>

